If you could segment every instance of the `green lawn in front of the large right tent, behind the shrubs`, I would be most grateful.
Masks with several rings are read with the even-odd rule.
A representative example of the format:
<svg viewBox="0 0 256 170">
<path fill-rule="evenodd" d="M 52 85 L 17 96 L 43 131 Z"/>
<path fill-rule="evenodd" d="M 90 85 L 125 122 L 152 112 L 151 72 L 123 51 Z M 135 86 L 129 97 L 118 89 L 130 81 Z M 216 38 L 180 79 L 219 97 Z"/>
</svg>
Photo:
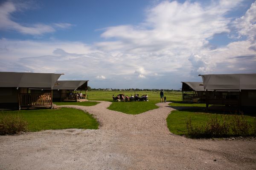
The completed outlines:
<svg viewBox="0 0 256 170">
<path fill-rule="evenodd" d="M 167 126 L 170 132 L 176 135 L 185 135 L 186 134 L 186 122 L 191 117 L 191 121 L 193 125 L 201 125 L 205 124 L 207 120 L 211 118 L 211 116 L 217 116 L 221 118 L 223 114 L 213 114 L 207 112 L 197 112 L 197 110 L 191 109 L 186 111 L 175 110 L 172 111 L 171 114 L 166 118 Z M 255 117 L 253 116 L 245 116 L 248 123 L 253 126 Z M 251 133 L 251 132 L 250 132 Z"/>
</svg>

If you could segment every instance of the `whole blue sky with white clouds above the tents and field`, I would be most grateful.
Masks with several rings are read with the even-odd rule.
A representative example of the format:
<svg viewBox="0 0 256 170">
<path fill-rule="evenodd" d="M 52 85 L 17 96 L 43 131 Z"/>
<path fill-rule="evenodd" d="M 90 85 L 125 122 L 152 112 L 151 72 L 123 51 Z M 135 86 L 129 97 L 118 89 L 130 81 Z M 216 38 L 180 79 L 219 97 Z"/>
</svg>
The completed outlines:
<svg viewBox="0 0 256 170">
<path fill-rule="evenodd" d="M 113 89 L 256 73 L 256 1 L 0 0 L 0 72 Z"/>
</svg>

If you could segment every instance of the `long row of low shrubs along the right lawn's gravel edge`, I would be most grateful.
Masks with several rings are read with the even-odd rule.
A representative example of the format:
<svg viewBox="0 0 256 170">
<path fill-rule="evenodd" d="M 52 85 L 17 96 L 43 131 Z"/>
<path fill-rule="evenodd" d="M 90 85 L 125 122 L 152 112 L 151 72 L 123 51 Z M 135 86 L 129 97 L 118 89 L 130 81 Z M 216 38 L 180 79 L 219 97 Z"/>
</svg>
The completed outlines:
<svg viewBox="0 0 256 170">
<path fill-rule="evenodd" d="M 187 136 L 191 138 L 220 138 L 229 136 L 247 136 L 252 128 L 256 134 L 256 120 L 254 126 L 245 119 L 244 115 L 212 116 L 206 124 L 193 126 L 191 118 L 186 123 Z"/>
</svg>

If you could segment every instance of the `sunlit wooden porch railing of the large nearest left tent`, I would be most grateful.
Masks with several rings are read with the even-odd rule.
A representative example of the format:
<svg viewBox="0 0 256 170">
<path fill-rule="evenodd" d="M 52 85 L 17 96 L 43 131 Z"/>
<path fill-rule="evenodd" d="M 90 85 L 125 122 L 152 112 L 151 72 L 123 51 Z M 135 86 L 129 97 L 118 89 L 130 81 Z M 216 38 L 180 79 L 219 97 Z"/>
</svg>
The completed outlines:
<svg viewBox="0 0 256 170">
<path fill-rule="evenodd" d="M 20 106 L 51 105 L 51 93 L 20 93 Z"/>
</svg>

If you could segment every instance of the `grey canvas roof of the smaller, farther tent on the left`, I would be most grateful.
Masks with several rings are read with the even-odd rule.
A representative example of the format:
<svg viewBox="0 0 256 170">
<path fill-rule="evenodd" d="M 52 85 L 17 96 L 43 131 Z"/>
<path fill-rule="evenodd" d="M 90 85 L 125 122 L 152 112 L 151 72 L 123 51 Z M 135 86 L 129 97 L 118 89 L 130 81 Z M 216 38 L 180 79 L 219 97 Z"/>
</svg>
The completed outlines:
<svg viewBox="0 0 256 170">
<path fill-rule="evenodd" d="M 53 87 L 53 89 L 65 89 L 65 90 L 76 90 L 83 84 L 85 84 L 87 80 L 85 81 L 57 81 L 56 85 Z"/>
</svg>

